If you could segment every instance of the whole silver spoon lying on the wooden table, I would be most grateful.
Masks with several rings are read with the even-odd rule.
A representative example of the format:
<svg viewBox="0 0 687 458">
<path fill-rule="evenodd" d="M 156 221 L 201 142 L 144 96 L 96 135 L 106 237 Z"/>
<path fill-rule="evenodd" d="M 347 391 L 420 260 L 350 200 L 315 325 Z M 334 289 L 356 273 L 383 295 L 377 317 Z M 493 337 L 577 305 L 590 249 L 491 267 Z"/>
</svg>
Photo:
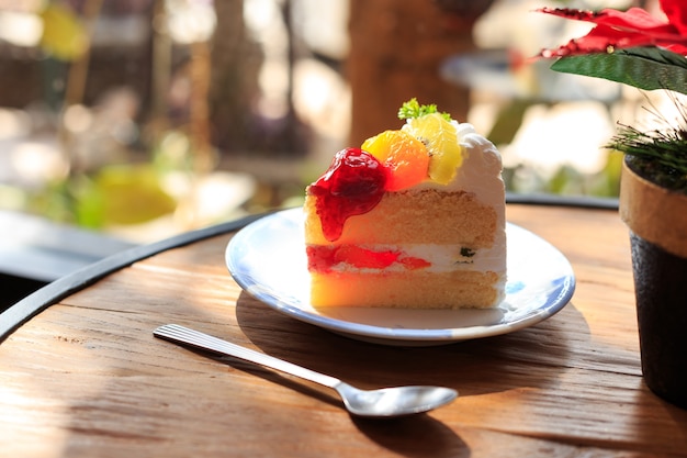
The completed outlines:
<svg viewBox="0 0 687 458">
<path fill-rule="evenodd" d="M 346 409 L 358 416 L 392 417 L 410 415 L 437 409 L 448 404 L 458 396 L 458 391 L 443 387 L 416 386 L 360 390 L 337 378 L 315 372 L 282 359 L 179 326 L 178 324 L 160 326 L 153 332 L 153 335 L 195 348 L 234 356 L 331 388 L 339 393 Z"/>
</svg>

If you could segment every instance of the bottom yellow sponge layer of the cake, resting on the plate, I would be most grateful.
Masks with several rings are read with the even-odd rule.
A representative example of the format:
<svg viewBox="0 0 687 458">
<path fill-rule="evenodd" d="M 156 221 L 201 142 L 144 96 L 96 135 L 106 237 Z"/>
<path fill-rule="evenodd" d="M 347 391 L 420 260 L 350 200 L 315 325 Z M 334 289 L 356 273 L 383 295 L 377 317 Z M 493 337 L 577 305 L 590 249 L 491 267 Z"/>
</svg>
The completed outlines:
<svg viewBox="0 0 687 458">
<path fill-rule="evenodd" d="M 311 272 L 313 306 L 387 306 L 403 309 L 486 309 L 498 304 L 495 272 L 428 273 Z"/>
</svg>

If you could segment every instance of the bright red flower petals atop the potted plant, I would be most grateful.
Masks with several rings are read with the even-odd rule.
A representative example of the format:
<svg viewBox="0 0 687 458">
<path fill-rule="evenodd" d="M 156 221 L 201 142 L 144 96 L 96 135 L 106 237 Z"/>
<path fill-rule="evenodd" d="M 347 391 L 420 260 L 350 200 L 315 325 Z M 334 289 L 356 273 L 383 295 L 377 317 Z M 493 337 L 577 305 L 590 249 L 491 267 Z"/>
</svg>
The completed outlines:
<svg viewBox="0 0 687 458">
<path fill-rule="evenodd" d="M 661 0 L 668 21 L 652 16 L 641 8 L 628 11 L 605 9 L 599 12 L 570 8 L 542 8 L 538 11 L 596 24 L 587 35 L 571 40 L 556 49 L 544 49 L 542 57 L 564 57 L 579 54 L 607 53 L 617 48 L 658 46 L 687 55 L 687 2 Z"/>
</svg>

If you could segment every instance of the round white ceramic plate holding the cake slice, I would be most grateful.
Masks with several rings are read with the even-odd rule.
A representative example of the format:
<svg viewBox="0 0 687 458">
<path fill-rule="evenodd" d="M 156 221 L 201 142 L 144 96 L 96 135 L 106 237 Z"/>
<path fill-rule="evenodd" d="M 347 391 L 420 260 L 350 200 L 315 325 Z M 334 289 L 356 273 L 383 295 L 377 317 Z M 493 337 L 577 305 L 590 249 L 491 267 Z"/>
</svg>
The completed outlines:
<svg viewBox="0 0 687 458">
<path fill-rule="evenodd" d="M 531 326 L 559 312 L 572 298 L 575 276 L 565 256 L 515 224 L 508 223 L 506 232 L 506 299 L 488 310 L 313 308 L 302 209 L 247 225 L 232 238 L 225 255 L 236 282 L 278 312 L 360 340 L 439 345 Z"/>
</svg>

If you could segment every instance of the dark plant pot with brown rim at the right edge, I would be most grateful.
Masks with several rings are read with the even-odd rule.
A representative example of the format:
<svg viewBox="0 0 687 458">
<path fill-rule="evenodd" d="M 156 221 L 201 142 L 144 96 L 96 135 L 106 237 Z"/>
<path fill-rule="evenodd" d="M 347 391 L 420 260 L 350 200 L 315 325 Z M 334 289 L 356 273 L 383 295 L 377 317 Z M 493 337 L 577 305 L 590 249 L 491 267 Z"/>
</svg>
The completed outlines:
<svg viewBox="0 0 687 458">
<path fill-rule="evenodd" d="M 623 164 L 620 216 L 630 230 L 646 386 L 687 409 L 687 196 Z"/>
</svg>

